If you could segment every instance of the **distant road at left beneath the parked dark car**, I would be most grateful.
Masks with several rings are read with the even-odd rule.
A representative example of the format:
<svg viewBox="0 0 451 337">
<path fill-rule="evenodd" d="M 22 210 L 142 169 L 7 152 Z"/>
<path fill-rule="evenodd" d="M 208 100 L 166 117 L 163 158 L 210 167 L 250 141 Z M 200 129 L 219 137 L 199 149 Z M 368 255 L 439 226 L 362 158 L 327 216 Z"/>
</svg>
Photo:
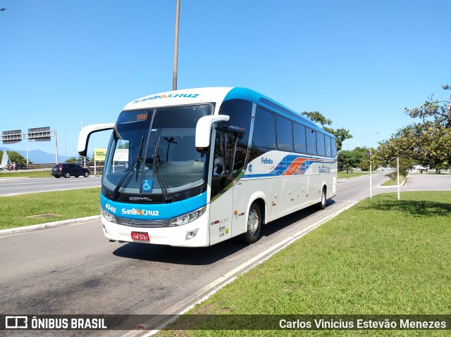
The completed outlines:
<svg viewBox="0 0 451 337">
<path fill-rule="evenodd" d="M 0 178 L 0 196 L 100 187 L 101 177 Z"/>
</svg>

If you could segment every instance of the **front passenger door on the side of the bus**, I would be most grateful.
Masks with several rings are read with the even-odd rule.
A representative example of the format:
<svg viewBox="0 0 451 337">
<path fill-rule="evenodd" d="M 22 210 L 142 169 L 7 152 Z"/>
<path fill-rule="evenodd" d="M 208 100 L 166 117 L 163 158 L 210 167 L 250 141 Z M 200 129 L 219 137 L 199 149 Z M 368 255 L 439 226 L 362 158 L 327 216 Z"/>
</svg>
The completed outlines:
<svg viewBox="0 0 451 337">
<path fill-rule="evenodd" d="M 210 244 L 232 236 L 233 161 L 237 136 L 216 129 L 214 153 L 211 160 Z"/>
</svg>

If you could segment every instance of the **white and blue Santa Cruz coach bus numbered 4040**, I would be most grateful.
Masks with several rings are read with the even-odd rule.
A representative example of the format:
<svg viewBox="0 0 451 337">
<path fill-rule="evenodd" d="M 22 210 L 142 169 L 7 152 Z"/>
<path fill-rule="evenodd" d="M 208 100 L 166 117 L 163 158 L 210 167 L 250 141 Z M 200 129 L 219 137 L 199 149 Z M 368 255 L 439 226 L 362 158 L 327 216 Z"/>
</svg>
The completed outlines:
<svg viewBox="0 0 451 337">
<path fill-rule="evenodd" d="M 244 88 L 169 91 L 128 103 L 101 178 L 106 239 L 199 247 L 243 236 L 326 200 L 337 189 L 335 137 Z"/>
</svg>

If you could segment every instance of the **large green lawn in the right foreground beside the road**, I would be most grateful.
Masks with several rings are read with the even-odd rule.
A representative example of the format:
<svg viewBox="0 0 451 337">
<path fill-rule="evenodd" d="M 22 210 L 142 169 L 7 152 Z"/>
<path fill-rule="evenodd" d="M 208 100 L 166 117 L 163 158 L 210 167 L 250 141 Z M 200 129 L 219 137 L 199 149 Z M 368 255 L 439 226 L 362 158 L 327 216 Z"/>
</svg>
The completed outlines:
<svg viewBox="0 0 451 337">
<path fill-rule="evenodd" d="M 187 313 L 450 314 L 450 243 L 451 192 L 404 192 L 401 201 L 397 201 L 396 193 L 373 196 L 238 276 Z M 450 336 L 449 330 L 208 329 L 167 330 L 160 331 L 158 336 L 299 336 L 300 333 Z"/>
</svg>

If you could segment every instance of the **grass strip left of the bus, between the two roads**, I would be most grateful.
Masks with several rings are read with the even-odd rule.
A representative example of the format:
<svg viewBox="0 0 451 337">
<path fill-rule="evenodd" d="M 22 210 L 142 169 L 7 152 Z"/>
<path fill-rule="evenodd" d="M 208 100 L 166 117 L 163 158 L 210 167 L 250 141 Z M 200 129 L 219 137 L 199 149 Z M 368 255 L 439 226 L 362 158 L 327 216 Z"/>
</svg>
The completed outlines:
<svg viewBox="0 0 451 337">
<path fill-rule="evenodd" d="M 1 197 L 0 229 L 99 215 L 99 193 L 98 187 Z M 56 216 L 28 217 L 43 214 Z"/>
</svg>

